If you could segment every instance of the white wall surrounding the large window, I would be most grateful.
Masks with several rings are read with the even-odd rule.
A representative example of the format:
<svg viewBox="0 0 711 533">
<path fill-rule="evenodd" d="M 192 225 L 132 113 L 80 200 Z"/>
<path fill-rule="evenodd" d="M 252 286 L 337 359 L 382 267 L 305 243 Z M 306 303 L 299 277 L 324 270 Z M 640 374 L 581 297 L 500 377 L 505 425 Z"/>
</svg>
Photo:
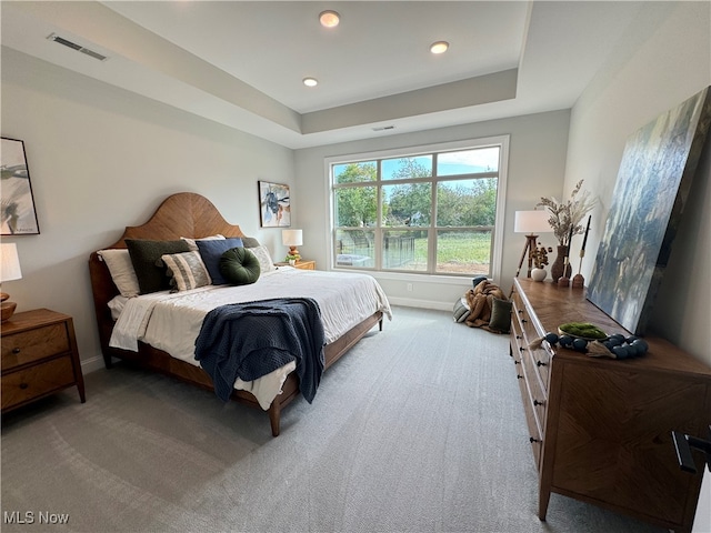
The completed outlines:
<svg viewBox="0 0 711 533">
<path fill-rule="evenodd" d="M 423 144 L 510 135 L 509 174 L 503 235 L 503 269 L 494 281 L 508 294 L 525 244 L 522 234 L 513 233 L 513 215 L 518 210 L 533 209 L 541 195 L 560 197 L 568 145 L 570 112 L 552 111 L 512 119 L 492 120 L 417 133 L 382 137 L 296 151 L 296 181 L 301 198 L 308 197 L 308 213 L 301 210 L 300 223 L 304 231 L 302 255 L 328 264 L 329 184 L 324 159 L 377 150 L 418 147 Z M 541 241 L 554 245 L 551 235 Z M 457 298 L 471 289 L 472 276 L 452 280 L 441 276 L 408 274 L 393 279 L 392 274 L 375 273 L 392 303 L 431 309 L 451 309 Z M 407 291 L 407 284 L 412 291 Z"/>
</svg>

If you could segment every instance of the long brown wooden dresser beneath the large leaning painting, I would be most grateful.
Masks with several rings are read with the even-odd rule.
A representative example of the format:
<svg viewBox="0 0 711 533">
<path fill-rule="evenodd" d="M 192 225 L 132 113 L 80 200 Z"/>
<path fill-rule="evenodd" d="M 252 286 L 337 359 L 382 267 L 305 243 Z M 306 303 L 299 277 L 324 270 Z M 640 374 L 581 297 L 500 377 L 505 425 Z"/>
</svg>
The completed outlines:
<svg viewBox="0 0 711 533">
<path fill-rule="evenodd" d="M 672 430 L 705 435 L 711 369 L 671 343 L 645 336 L 649 351 L 613 360 L 534 341 L 565 322 L 621 325 L 584 289 L 515 279 L 511 356 L 539 473 L 539 519 L 551 492 L 674 531 L 691 531 L 701 475 L 682 472 Z M 701 465 L 701 454 L 695 455 Z"/>
</svg>

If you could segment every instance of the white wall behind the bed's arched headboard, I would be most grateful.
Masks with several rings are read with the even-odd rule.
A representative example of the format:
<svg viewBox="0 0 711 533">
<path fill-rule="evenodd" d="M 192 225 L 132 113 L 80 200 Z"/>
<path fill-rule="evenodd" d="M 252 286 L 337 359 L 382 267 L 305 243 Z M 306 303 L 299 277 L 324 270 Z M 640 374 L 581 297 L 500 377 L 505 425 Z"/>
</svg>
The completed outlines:
<svg viewBox="0 0 711 533">
<path fill-rule="evenodd" d="M 2 289 L 18 311 L 72 315 L 89 369 L 102 364 L 89 253 L 146 222 L 168 195 L 203 194 L 283 252 L 279 230 L 259 228 L 257 181 L 292 183 L 287 148 L 6 48 L 2 135 L 24 141 L 41 232 L 3 238 L 17 242 L 22 279 Z"/>
</svg>

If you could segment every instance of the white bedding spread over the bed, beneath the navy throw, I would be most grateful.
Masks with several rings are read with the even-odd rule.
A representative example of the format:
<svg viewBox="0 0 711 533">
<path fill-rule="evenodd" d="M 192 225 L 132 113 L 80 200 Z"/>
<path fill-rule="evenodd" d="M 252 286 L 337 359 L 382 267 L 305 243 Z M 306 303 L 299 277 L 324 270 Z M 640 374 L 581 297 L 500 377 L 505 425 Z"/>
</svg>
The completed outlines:
<svg viewBox="0 0 711 533">
<path fill-rule="evenodd" d="M 371 275 L 280 266 L 263 273 L 257 283 L 250 285 L 208 285 L 130 299 L 117 296 L 109 304 L 112 312 L 118 313 L 109 344 L 138 351 L 140 340 L 199 366 L 194 360 L 194 344 L 209 311 L 228 303 L 289 296 L 313 298 L 319 303 L 329 343 L 375 311 L 392 316 L 388 298 Z M 234 388 L 250 391 L 267 410 L 294 369 L 296 363 L 292 362 L 259 380 L 243 382 L 238 379 Z"/>
</svg>

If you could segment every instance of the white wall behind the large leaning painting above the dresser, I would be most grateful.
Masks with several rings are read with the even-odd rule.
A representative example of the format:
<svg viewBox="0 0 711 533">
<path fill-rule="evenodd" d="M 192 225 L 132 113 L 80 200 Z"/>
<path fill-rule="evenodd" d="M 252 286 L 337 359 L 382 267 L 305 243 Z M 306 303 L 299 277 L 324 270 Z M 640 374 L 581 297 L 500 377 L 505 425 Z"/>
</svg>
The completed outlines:
<svg viewBox="0 0 711 533">
<path fill-rule="evenodd" d="M 647 2 L 614 54 L 573 107 L 565 191 L 585 180 L 593 212 L 583 275 L 590 276 L 627 138 L 711 84 L 708 2 Z M 707 144 L 707 147 L 711 147 Z M 707 148 L 662 281 L 651 326 L 711 364 L 711 158 Z"/>
</svg>

